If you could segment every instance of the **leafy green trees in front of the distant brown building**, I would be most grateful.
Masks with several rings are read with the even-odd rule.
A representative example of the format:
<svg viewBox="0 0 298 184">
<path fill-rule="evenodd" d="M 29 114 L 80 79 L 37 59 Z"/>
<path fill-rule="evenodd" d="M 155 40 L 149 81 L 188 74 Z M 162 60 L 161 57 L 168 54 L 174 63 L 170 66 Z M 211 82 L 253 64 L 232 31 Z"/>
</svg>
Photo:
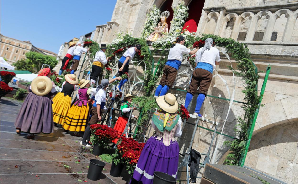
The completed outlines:
<svg viewBox="0 0 298 184">
<path fill-rule="evenodd" d="M 41 69 L 42 64 L 50 65 L 53 69 L 58 63 L 58 60 L 49 55 L 43 55 L 38 52 L 27 52 L 26 59 L 21 59 L 14 63 L 16 70 L 28 70 L 30 72 L 38 72 Z"/>
</svg>

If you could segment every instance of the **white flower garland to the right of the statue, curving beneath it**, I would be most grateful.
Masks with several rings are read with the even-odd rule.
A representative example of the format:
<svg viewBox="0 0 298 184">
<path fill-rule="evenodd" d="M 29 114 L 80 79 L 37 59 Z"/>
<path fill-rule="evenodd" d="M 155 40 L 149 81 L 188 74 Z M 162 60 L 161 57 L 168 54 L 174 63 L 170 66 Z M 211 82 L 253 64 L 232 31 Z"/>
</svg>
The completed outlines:
<svg viewBox="0 0 298 184">
<path fill-rule="evenodd" d="M 170 46 L 177 38 L 178 35 L 184 35 L 182 28 L 185 23 L 185 19 L 188 17 L 188 7 L 185 7 L 183 4 L 179 5 L 174 10 L 173 20 L 171 21 L 171 33 L 159 38 L 158 40 L 152 43 L 153 47 L 166 47 Z"/>
</svg>

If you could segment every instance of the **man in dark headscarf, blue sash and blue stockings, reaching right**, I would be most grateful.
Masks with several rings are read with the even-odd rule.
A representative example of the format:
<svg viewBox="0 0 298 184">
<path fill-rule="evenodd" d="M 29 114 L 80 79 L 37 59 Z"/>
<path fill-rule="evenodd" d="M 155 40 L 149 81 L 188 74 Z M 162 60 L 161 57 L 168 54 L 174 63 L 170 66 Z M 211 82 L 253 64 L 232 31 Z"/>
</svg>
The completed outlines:
<svg viewBox="0 0 298 184">
<path fill-rule="evenodd" d="M 181 66 L 183 54 L 193 55 L 195 52 L 198 51 L 198 48 L 191 51 L 184 46 L 184 43 L 184 37 L 182 35 L 179 35 L 176 38 L 176 44 L 173 44 L 172 48 L 170 48 L 167 62 L 164 66 L 162 79 L 160 80 L 159 86 L 157 86 L 155 91 L 155 98 L 165 95 L 169 88 L 172 87 L 172 85 L 174 84 L 178 69 Z"/>
</svg>

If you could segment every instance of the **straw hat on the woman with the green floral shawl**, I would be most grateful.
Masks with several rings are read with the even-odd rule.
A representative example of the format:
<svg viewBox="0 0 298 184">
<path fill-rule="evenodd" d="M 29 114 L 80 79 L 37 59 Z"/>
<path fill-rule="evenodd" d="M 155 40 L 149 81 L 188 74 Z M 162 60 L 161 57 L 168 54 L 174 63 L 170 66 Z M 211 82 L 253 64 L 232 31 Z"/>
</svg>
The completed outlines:
<svg viewBox="0 0 298 184">
<path fill-rule="evenodd" d="M 169 114 L 174 114 L 179 109 L 176 97 L 171 93 L 156 98 L 156 103 L 160 109 Z"/>
</svg>

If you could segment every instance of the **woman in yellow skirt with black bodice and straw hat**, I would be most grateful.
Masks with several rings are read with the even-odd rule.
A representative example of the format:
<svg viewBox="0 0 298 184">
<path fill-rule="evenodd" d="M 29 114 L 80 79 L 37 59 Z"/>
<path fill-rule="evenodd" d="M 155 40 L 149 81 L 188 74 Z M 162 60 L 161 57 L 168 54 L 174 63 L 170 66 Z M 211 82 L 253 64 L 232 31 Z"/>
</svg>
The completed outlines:
<svg viewBox="0 0 298 184">
<path fill-rule="evenodd" d="M 62 127 L 65 117 L 70 105 L 72 103 L 72 92 L 77 90 L 76 84 L 78 84 L 78 79 L 75 74 L 65 75 L 65 82 L 62 83 L 60 92 L 53 98 L 53 118 L 54 125 Z"/>
</svg>

